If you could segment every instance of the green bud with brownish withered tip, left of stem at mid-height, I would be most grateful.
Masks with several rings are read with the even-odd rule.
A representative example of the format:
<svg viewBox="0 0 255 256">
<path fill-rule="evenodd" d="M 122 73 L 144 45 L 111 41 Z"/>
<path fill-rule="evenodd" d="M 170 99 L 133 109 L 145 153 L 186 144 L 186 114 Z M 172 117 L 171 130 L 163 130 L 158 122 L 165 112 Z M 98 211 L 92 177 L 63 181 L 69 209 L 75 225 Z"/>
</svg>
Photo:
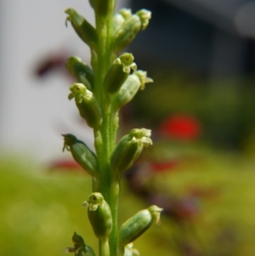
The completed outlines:
<svg viewBox="0 0 255 256">
<path fill-rule="evenodd" d="M 71 151 L 71 155 L 75 161 L 79 163 L 88 174 L 97 176 L 97 156 L 88 148 L 88 145 L 72 134 L 62 134 L 62 136 L 64 137 L 63 151 L 65 151 L 65 149 Z"/>
</svg>

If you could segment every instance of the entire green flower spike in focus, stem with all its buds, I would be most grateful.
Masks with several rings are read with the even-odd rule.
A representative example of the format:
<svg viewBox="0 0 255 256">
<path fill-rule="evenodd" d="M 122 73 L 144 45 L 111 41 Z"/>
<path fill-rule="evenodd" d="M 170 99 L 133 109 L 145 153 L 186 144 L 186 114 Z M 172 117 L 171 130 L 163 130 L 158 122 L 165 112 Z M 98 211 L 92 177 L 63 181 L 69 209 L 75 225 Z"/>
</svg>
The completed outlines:
<svg viewBox="0 0 255 256">
<path fill-rule="evenodd" d="M 76 56 L 66 67 L 77 78 L 68 99 L 74 98 L 80 116 L 94 129 L 95 153 L 72 134 L 64 134 L 64 148 L 92 176 L 93 193 L 83 205 L 88 206 L 88 219 L 99 240 L 100 256 L 133 255 L 131 242 L 159 223 L 161 208 L 151 206 L 135 214 L 122 225 L 117 224 L 118 201 L 122 173 L 133 165 L 144 147 L 152 144 L 150 130 L 134 128 L 116 143 L 119 111 L 133 99 L 145 83 L 152 82 L 145 71 L 137 71 L 133 54 L 122 53 L 150 20 L 150 11 L 141 9 L 132 14 L 121 9 L 115 14 L 116 0 L 90 0 L 95 14 L 95 27 L 74 9 L 67 9 L 66 22 L 88 44 L 91 66 Z M 94 255 L 82 236 L 74 233 L 74 247 L 67 252 Z"/>
</svg>

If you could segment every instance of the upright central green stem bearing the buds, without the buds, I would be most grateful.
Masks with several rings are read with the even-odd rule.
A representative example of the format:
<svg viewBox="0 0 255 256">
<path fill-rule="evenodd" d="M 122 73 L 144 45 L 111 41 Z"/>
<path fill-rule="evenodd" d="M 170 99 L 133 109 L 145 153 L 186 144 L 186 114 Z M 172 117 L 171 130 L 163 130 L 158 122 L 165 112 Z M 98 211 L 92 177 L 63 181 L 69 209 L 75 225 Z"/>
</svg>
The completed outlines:
<svg viewBox="0 0 255 256">
<path fill-rule="evenodd" d="M 103 111 L 102 126 L 94 131 L 95 149 L 97 151 L 99 162 L 99 185 L 98 190 L 108 202 L 111 208 L 113 227 L 109 244 L 99 241 L 99 256 L 116 256 L 117 255 L 117 213 L 119 199 L 119 181 L 113 180 L 111 174 L 110 157 L 111 152 L 116 145 L 116 131 L 118 127 L 118 118 L 112 112 L 110 100 L 104 94 L 104 79 L 106 72 L 111 66 L 116 55 L 112 50 L 112 31 L 113 15 L 116 0 L 111 1 L 111 11 L 107 17 L 99 17 L 96 14 L 96 30 L 99 36 L 99 43 L 96 53 L 92 55 L 92 65 L 94 67 L 95 88 L 94 94 L 99 101 Z M 110 253 L 109 253 L 110 252 Z"/>
</svg>

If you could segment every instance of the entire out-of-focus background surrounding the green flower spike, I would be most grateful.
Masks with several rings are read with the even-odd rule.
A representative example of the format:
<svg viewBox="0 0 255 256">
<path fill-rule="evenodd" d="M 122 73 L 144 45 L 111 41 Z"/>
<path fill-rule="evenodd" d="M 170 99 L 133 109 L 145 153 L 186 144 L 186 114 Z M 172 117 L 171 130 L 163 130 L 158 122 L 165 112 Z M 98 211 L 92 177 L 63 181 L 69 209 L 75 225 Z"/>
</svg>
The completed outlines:
<svg viewBox="0 0 255 256">
<path fill-rule="evenodd" d="M 0 3 L 0 254 L 62 255 L 74 231 L 97 243 L 86 209 L 87 174 L 62 153 L 60 134 L 93 148 L 93 133 L 67 100 L 65 60 L 89 64 L 67 8 L 92 24 L 85 0 Z M 122 184 L 120 223 L 164 208 L 161 226 L 134 243 L 141 255 L 255 254 L 255 1 L 122 0 L 152 11 L 127 49 L 148 84 L 121 113 L 119 136 L 151 128 Z"/>
</svg>

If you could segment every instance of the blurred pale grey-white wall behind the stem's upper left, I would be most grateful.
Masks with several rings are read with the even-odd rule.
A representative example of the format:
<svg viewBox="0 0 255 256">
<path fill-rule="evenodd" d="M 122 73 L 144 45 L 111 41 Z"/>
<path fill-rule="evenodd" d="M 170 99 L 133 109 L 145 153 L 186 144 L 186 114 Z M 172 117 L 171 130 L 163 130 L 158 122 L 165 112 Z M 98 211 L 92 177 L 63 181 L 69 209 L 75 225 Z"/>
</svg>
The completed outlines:
<svg viewBox="0 0 255 256">
<path fill-rule="evenodd" d="M 117 9 L 127 7 L 119 1 Z M 67 100 L 71 81 L 55 73 L 34 76 L 45 55 L 69 50 L 89 61 L 87 46 L 71 26 L 67 8 L 94 23 L 87 0 L 1 0 L 0 3 L 0 150 L 39 160 L 62 156 L 59 134 L 73 133 L 93 145 L 92 132 L 79 123 L 74 102 Z"/>
</svg>

